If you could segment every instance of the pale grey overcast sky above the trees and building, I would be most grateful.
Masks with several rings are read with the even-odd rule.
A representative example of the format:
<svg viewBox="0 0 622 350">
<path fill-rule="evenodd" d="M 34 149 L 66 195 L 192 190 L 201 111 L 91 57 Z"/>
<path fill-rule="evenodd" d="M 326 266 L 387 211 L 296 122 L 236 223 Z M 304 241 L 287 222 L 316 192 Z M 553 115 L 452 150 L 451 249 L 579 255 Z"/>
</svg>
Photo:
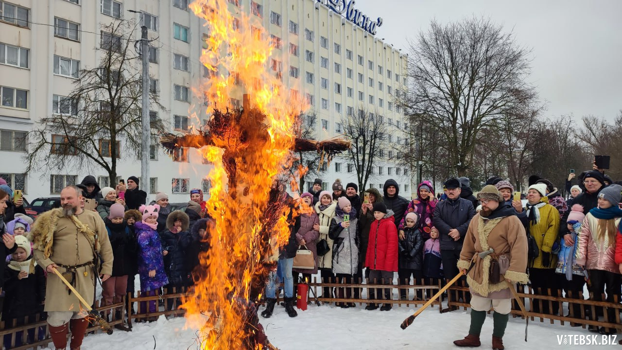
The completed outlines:
<svg viewBox="0 0 622 350">
<path fill-rule="evenodd" d="M 383 17 L 376 34 L 402 52 L 431 19 L 486 16 L 532 49 L 531 82 L 547 103 L 545 116 L 593 114 L 613 120 L 622 108 L 620 0 L 356 0 Z"/>
</svg>

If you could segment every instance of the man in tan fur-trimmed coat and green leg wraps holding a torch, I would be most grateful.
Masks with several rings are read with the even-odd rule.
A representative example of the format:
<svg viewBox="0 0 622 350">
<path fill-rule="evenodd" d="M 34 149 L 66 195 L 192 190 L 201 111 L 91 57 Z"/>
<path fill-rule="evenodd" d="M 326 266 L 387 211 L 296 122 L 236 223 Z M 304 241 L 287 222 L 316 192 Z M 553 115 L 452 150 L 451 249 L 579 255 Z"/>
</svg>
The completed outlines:
<svg viewBox="0 0 622 350">
<path fill-rule="evenodd" d="M 471 220 L 458 268 L 465 274 L 471 292 L 471 326 L 468 336 L 454 341 L 457 346 L 480 346 L 481 326 L 486 312 L 494 308 L 493 349 L 503 350 L 503 334 L 512 308 L 516 282 L 527 283 L 527 237 L 514 209 L 503 200 L 494 185 L 486 185 L 477 195 L 481 211 Z M 478 253 L 493 252 L 480 258 Z"/>
</svg>

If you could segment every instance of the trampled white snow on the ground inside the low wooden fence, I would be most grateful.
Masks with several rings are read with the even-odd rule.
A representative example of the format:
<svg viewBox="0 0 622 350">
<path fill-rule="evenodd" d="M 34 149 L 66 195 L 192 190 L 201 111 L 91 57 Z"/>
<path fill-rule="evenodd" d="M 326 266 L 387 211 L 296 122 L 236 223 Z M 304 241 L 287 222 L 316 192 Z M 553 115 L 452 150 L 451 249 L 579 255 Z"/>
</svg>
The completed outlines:
<svg viewBox="0 0 622 350">
<path fill-rule="evenodd" d="M 452 344 L 468 332 L 469 311 L 439 313 L 438 308 L 428 308 L 417 316 L 406 330 L 399 325 L 414 313 L 414 307 L 394 307 L 391 311 L 366 311 L 364 306 L 342 309 L 330 305 L 309 305 L 307 311 L 298 310 L 298 316 L 289 318 L 285 308 L 276 306 L 274 315 L 261 319 L 272 344 L 279 349 L 458 349 Z M 261 310 L 260 310 L 261 311 Z M 490 349 L 493 331 L 492 315 L 488 315 L 482 329 L 481 349 Z M 528 342 L 524 341 L 525 321 L 510 318 L 503 338 L 506 349 L 551 349 L 560 347 L 558 336 L 595 333 L 582 328 L 571 328 L 567 323 L 550 324 L 539 320 L 529 323 Z M 154 323 L 134 324 L 131 333 L 115 330 L 114 334 L 95 334 L 85 338 L 83 349 L 198 349 L 195 330 L 184 329 L 184 319 L 167 320 L 164 316 Z M 562 341 L 567 338 L 562 338 Z M 575 338 L 573 338 L 575 339 Z M 573 339 L 570 339 L 572 341 Z M 577 341 L 579 338 L 576 338 Z M 576 345 L 576 349 L 615 349 L 617 345 Z M 567 339 L 569 340 L 569 339 Z M 597 340 L 601 341 L 598 334 Z M 569 345 L 562 345 L 569 346 Z"/>
</svg>

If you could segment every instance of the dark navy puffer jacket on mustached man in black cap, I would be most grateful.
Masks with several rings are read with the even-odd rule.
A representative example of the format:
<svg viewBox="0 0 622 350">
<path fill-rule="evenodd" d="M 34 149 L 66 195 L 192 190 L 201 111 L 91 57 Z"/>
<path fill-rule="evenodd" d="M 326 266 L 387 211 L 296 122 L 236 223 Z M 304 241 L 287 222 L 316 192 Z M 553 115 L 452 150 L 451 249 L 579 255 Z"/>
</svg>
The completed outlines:
<svg viewBox="0 0 622 350">
<path fill-rule="evenodd" d="M 445 199 L 434 209 L 434 226 L 439 230 L 440 250 L 462 250 L 468 224 L 475 216 L 473 203 L 463 198 Z M 449 231 L 458 229 L 460 239 L 453 240 Z"/>
</svg>

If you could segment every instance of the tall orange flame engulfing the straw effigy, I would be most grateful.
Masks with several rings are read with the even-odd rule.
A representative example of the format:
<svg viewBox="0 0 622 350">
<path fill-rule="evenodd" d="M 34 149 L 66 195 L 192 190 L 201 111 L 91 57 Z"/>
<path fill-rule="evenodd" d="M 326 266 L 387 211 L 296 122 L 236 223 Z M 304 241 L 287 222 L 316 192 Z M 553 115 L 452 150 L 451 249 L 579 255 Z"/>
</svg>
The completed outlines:
<svg viewBox="0 0 622 350">
<path fill-rule="evenodd" d="M 249 334 L 254 333 L 249 318 L 256 317 L 254 303 L 267 276 L 272 248 L 289 237 L 282 207 L 269 206 L 270 189 L 274 177 L 291 165 L 292 130 L 304 105 L 300 94 L 290 93 L 268 67 L 273 46 L 257 18 L 234 17 L 228 6 L 225 0 L 197 0 L 189 6 L 207 21 L 210 32 L 201 62 L 212 72 L 211 78 L 198 92 L 210 108 L 220 111 L 237 107 L 233 101 L 241 101 L 243 93 L 248 100 L 238 120 L 246 125 L 233 125 L 230 135 L 217 135 L 214 146 L 201 149 L 214 166 L 207 176 L 212 186 L 207 208 L 216 224 L 210 251 L 200 257 L 200 280 L 182 308 L 187 310 L 187 326 L 201 331 L 202 349 L 261 349 L 263 344 L 249 345 Z M 265 116 L 265 127 L 253 130 L 248 125 L 258 115 Z M 223 158 L 236 164 L 237 188 L 228 188 L 231 178 L 226 169 L 231 171 L 231 166 Z M 276 224 L 266 235 L 270 215 Z"/>
</svg>

